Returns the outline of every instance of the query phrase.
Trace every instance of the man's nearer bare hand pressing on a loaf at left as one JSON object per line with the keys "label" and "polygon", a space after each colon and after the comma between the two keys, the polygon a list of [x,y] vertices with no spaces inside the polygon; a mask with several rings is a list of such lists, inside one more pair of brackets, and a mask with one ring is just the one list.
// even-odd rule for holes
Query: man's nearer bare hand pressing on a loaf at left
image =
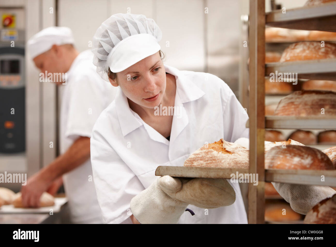
{"label": "man's nearer bare hand pressing on a loaf at left", "polygon": [[39,207],[40,197],[50,186],[51,181],[38,172],[31,176],[27,184],[22,186],[22,204],[24,207]]}

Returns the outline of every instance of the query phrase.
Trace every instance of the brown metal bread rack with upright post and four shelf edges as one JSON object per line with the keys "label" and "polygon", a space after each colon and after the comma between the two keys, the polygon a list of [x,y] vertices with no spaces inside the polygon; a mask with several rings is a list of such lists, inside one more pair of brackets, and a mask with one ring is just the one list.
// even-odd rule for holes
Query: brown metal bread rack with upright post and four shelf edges
{"label": "brown metal bread rack with upright post and four shelf edges", "polygon": [[[250,0],[249,29],[249,83],[250,114],[247,126],[250,128],[250,171],[258,173],[257,186],[249,184],[248,222],[264,223],[265,197],[264,183],[277,181],[287,183],[317,184],[321,172],[327,174],[328,184],[336,186],[336,171],[265,170],[264,139],[265,128],[278,129],[333,129],[336,118],[301,118],[301,117],[265,117],[265,76],[271,72],[296,72],[299,78],[336,80],[336,59],[295,61],[266,64],[265,25],[272,27],[318,30],[336,32],[336,3],[320,6],[308,6],[295,9],[275,10],[265,13],[264,0]],[[318,122],[317,122],[318,121]],[[304,127],[302,127],[304,126]],[[327,175],[326,175],[327,177]],[[318,179],[319,178],[319,179]]]}

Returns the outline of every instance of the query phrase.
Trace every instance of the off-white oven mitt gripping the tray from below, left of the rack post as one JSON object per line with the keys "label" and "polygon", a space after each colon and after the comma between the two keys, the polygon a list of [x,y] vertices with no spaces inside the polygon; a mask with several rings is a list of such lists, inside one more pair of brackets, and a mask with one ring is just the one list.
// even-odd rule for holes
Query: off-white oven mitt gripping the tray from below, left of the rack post
{"label": "off-white oven mitt gripping the tray from below, left of the rack post", "polygon": [[142,224],[176,224],[189,204],[200,208],[229,206],[236,193],[226,179],[162,176],[131,200]]}

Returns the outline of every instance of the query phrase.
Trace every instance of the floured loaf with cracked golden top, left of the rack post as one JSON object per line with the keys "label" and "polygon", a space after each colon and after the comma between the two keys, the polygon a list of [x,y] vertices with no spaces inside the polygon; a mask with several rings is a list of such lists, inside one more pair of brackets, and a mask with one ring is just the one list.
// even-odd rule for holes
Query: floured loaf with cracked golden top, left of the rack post
{"label": "floured loaf with cracked golden top, left of the rack post", "polygon": [[184,161],[184,166],[249,168],[249,150],[222,138],[196,150]]}

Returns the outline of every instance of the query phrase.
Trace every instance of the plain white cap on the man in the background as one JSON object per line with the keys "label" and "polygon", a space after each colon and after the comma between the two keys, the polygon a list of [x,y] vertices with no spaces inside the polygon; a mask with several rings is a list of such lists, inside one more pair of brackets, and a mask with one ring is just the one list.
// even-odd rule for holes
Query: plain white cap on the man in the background
{"label": "plain white cap on the man in the background", "polygon": [[72,31],[67,27],[49,27],[33,35],[27,42],[31,59],[50,50],[53,45],[74,44]]}

